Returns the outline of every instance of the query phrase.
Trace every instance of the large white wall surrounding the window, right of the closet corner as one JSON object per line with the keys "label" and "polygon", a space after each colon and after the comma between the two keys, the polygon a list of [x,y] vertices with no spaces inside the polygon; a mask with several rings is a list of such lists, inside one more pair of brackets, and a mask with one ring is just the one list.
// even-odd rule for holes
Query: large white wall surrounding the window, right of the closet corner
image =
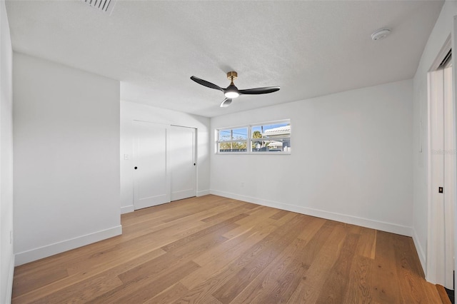
{"label": "large white wall surrounding the window, right of the closet corner", "polygon": [[411,80],[219,116],[211,128],[285,118],[291,155],[212,152],[211,193],[411,235]]}

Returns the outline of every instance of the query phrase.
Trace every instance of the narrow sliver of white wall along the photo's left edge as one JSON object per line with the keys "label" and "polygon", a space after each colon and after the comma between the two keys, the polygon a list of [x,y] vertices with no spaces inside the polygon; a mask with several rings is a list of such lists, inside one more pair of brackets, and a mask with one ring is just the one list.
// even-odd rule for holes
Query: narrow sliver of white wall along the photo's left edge
{"label": "narrow sliver of white wall along the photo's left edge", "polygon": [[0,303],[10,303],[14,254],[12,51],[5,1],[0,1]]}

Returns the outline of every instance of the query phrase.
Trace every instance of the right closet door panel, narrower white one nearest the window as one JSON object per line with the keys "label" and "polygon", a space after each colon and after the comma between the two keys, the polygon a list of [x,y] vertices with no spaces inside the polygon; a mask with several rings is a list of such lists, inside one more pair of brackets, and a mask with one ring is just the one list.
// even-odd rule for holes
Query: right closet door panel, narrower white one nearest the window
{"label": "right closet door panel, narrower white one nearest the window", "polygon": [[196,129],[169,128],[171,201],[196,196]]}

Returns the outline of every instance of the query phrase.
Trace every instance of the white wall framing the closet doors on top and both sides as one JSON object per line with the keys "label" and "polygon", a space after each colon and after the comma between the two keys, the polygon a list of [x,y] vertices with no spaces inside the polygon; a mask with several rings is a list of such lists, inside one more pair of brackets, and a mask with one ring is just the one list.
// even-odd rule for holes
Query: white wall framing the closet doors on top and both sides
{"label": "white wall framing the closet doors on top and both sides", "polygon": [[[133,202],[133,134],[134,120],[197,128],[197,196],[209,194],[209,126],[210,119],[178,111],[121,101],[121,209],[134,211]],[[129,160],[124,160],[124,154]]]}

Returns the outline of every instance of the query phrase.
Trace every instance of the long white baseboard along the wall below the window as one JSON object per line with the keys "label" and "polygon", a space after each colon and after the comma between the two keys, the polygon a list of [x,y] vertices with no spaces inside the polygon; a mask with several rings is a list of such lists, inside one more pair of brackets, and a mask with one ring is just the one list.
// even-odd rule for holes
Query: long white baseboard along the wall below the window
{"label": "long white baseboard along the wall below the window", "polygon": [[348,216],[341,213],[333,213],[329,211],[322,211],[313,208],[306,208],[302,206],[289,205],[286,203],[278,203],[275,201],[268,201],[261,198],[253,198],[251,196],[241,196],[235,193],[228,193],[224,191],[211,190],[211,194],[215,196],[224,196],[226,198],[233,198],[238,201],[246,201],[248,203],[256,203],[258,205],[278,208],[286,211],[292,211],[296,213],[306,214],[307,216],[316,216],[318,218],[325,218],[327,220],[338,221],[342,223],[353,224],[366,228],[372,228],[376,230],[382,230],[390,233],[396,233],[400,235],[412,236],[411,227],[401,226],[393,223],[386,223],[382,221],[374,221],[368,218],[358,218],[357,216]]}

